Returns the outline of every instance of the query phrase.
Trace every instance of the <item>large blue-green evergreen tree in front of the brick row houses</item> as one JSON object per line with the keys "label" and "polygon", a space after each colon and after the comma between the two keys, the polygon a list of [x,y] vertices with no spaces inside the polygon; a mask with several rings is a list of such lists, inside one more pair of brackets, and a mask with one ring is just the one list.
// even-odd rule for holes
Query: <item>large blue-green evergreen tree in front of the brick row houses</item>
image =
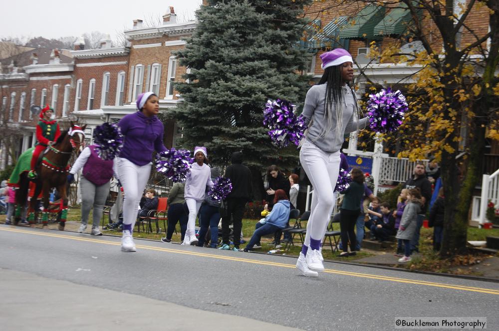
{"label": "large blue-green evergreen tree in front of the brick row houses", "polygon": [[196,31],[176,54],[191,83],[175,84],[185,102],[167,115],[183,126],[183,147],[205,145],[215,164],[242,150],[255,174],[270,164],[296,166],[296,148],[271,144],[263,107],[269,98],[304,101],[310,77],[299,72],[309,55],[296,44],[310,2],[212,0],[197,11]]}

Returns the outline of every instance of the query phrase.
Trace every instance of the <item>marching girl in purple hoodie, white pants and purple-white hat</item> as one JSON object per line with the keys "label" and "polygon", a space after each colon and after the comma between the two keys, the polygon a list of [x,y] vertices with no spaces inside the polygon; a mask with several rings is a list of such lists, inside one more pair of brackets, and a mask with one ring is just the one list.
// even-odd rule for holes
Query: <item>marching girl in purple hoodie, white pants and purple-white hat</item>
{"label": "marching girl in purple hoodie, white pants and purple-white hat", "polygon": [[139,111],[126,115],[118,123],[125,142],[115,160],[116,173],[126,193],[121,250],[127,252],[136,251],[132,230],[142,192],[151,173],[153,151],[166,151],[163,145],[163,123],[156,116],[159,112],[158,97],[152,92],[142,93],[136,103]]}

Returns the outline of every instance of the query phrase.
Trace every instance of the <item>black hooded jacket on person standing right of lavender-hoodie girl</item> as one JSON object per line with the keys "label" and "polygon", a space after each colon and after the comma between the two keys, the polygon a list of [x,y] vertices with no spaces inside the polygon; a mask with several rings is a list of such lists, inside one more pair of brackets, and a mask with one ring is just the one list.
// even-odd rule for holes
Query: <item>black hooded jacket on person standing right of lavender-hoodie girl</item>
{"label": "black hooded jacket on person standing right of lavender-hoodie girl", "polygon": [[253,187],[251,181],[250,168],[243,165],[243,153],[235,152],[232,154],[232,164],[225,170],[225,177],[232,182],[232,191],[227,196],[228,199],[253,199]]}

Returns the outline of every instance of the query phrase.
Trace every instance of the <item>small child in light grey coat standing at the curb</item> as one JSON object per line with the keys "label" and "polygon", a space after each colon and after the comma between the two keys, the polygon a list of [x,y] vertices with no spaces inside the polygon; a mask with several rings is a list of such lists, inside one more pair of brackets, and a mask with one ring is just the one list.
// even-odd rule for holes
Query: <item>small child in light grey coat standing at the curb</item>
{"label": "small child in light grey coat standing at the curb", "polygon": [[407,206],[400,220],[397,239],[404,241],[404,256],[399,258],[399,262],[408,262],[411,260],[411,239],[418,230],[417,217],[421,211],[423,203],[419,189],[410,189],[407,195]]}

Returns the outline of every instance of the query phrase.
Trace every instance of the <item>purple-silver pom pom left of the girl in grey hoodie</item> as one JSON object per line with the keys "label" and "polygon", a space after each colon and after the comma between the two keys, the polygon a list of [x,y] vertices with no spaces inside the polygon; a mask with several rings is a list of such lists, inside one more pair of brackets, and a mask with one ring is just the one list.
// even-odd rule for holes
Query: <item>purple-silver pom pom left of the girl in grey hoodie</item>
{"label": "purple-silver pom pom left of the girl in grey hoodie", "polygon": [[307,128],[304,117],[294,114],[294,106],[286,100],[268,100],[263,111],[263,125],[267,126],[270,140],[277,147],[289,143],[298,146]]}

